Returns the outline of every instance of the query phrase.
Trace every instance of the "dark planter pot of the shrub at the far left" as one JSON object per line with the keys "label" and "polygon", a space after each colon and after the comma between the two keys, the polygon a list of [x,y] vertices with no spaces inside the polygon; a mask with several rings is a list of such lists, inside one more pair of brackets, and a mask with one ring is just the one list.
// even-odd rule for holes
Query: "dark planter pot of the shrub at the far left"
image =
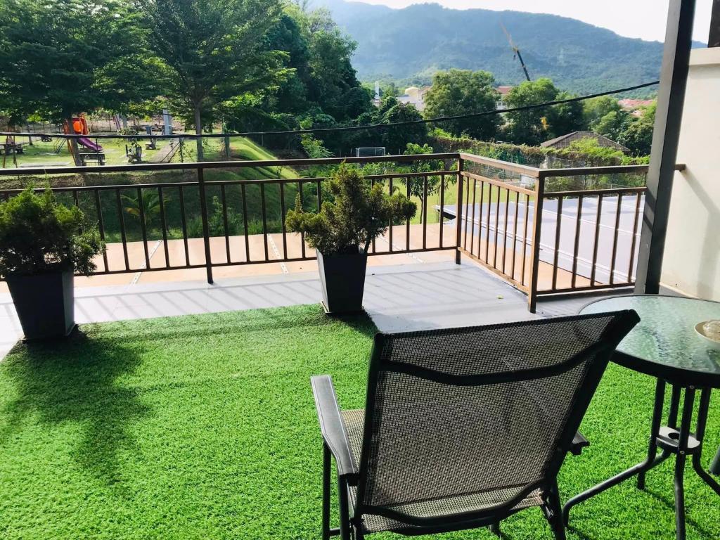
{"label": "dark planter pot of the shrub at the far left", "polygon": [[14,275],[6,280],[26,340],[61,338],[73,331],[73,271]]}

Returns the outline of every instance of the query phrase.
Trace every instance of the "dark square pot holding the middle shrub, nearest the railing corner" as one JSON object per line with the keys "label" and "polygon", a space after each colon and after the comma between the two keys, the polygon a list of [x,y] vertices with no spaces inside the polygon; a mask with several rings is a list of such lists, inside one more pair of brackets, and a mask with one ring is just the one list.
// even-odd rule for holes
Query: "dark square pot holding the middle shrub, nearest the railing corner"
{"label": "dark square pot holding the middle shrub, nearest the railing corner", "polygon": [[367,253],[323,255],[318,251],[318,270],[323,288],[323,307],[331,315],[362,311]]}

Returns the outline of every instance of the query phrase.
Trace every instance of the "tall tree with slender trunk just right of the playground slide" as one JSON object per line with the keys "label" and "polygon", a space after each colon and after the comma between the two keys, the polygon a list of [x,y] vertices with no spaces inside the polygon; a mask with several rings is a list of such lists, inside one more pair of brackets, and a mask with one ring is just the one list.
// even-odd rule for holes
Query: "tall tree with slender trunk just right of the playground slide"
{"label": "tall tree with slender trunk just right of the playground slide", "polygon": [[[171,99],[193,112],[195,133],[217,104],[276,86],[288,74],[284,53],[265,50],[264,36],[282,4],[274,0],[137,0],[150,48],[166,66]],[[202,139],[197,139],[202,161]]]}

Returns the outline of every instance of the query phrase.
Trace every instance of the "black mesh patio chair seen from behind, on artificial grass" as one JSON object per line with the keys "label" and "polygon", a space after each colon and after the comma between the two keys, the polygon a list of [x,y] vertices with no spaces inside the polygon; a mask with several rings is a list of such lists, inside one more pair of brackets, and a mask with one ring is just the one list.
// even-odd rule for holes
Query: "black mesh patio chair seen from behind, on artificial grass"
{"label": "black mesh patio chair seen from behind, on artificial grass", "polygon": [[[564,539],[557,472],[633,311],[379,333],[366,408],[312,377],[323,433],[323,540],[490,526],[539,506]],[[340,528],[330,528],[330,458]]]}

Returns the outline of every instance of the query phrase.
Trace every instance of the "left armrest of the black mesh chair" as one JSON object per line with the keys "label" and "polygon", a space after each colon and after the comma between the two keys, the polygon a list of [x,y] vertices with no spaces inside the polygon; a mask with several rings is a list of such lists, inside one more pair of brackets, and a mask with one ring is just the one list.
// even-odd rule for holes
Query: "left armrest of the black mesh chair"
{"label": "left armrest of the black mesh chair", "polygon": [[333,379],[330,379],[330,375],[318,375],[310,379],[310,384],[312,384],[312,395],[315,397],[315,408],[318,410],[320,431],[323,433],[325,444],[335,457],[338,476],[357,474],[350,439],[340,415]]}

